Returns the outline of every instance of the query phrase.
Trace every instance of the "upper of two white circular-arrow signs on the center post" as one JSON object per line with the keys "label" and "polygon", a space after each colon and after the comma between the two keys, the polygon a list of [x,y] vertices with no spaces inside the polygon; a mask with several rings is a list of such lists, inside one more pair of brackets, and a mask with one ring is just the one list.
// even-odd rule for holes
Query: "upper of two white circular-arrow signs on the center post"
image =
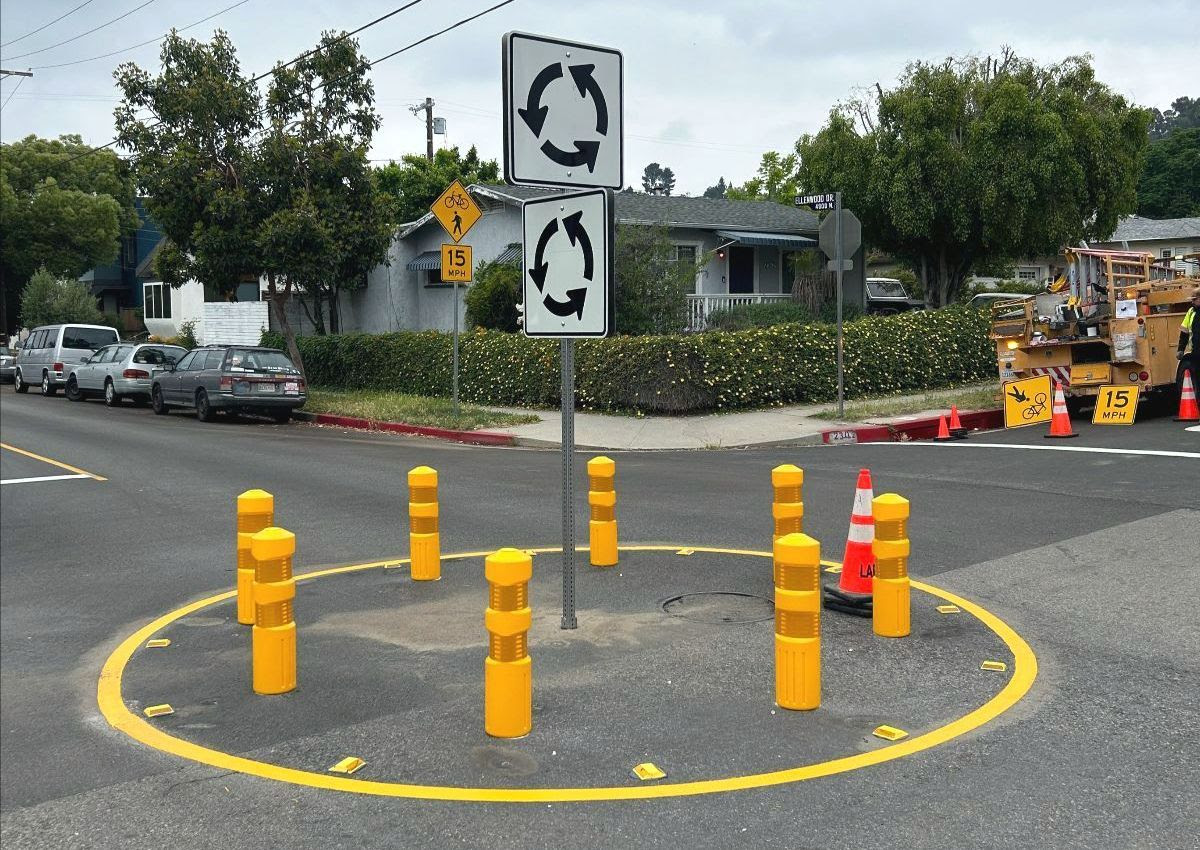
{"label": "upper of two white circular-arrow signs on the center post", "polygon": [[625,161],[620,52],[509,32],[502,62],[505,181],[620,188]]}

